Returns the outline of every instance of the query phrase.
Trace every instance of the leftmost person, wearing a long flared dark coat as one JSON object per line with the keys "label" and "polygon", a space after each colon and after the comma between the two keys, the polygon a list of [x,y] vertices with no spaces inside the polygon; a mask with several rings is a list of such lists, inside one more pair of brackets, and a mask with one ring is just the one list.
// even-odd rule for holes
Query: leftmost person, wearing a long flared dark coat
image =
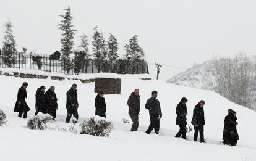
{"label": "leftmost person, wearing a long flared dark coat", "polygon": [[27,102],[25,101],[25,98],[27,98],[27,86],[28,83],[24,82],[22,86],[19,88],[18,94],[17,94],[17,101],[15,103],[14,112],[19,112],[18,117],[27,118],[27,113],[30,110],[30,108],[27,105]]}

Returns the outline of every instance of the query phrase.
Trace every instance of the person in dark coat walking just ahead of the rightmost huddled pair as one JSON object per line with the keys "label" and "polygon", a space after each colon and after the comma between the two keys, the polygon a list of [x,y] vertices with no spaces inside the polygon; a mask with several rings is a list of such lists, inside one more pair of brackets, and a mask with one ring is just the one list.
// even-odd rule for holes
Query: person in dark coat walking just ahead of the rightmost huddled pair
{"label": "person in dark coat walking just ahead of the rightmost huddled pair", "polygon": [[193,111],[192,125],[194,125],[195,133],[194,133],[194,141],[197,141],[198,132],[200,132],[200,142],[205,142],[203,137],[203,126],[205,125],[205,112],[203,111],[203,106],[205,105],[205,101],[201,100],[197,105],[195,105],[195,109]]}

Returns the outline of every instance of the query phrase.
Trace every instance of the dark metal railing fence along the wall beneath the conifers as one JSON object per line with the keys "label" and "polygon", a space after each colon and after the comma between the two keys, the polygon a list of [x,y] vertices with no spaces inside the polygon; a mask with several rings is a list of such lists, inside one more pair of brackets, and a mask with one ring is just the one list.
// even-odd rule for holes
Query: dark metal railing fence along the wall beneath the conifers
{"label": "dark metal railing fence along the wall beneath the conifers", "polygon": [[[64,71],[61,67],[61,60],[50,60],[49,56],[41,56],[41,68],[38,68],[36,61],[33,61],[31,55],[17,54],[15,55],[15,64],[9,66],[5,64],[2,55],[0,55],[0,67],[1,68],[19,68],[19,69],[31,69],[31,70],[41,70],[45,72],[56,72],[64,74],[75,74],[74,69],[71,69],[69,73]],[[109,62],[110,64],[110,62]],[[132,68],[131,64],[124,64],[122,61],[115,61],[112,63],[112,73],[122,73],[122,74],[132,74],[131,70],[124,71],[123,68],[130,69]],[[148,73],[147,62],[142,62],[143,67],[137,68],[134,74]],[[122,67],[123,66],[123,67]],[[109,71],[110,72],[110,71]],[[99,73],[95,60],[90,60],[89,65],[83,65],[83,68],[80,73]]]}

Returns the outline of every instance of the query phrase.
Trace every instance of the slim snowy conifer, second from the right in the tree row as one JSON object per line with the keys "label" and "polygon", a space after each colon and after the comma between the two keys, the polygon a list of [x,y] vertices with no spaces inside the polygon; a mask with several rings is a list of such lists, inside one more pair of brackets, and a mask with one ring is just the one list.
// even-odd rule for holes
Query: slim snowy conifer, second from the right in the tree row
{"label": "slim snowy conifer, second from the right in the tree row", "polygon": [[108,58],[110,63],[110,72],[113,73],[113,61],[116,61],[119,58],[118,51],[118,42],[112,33],[109,33],[108,38]]}

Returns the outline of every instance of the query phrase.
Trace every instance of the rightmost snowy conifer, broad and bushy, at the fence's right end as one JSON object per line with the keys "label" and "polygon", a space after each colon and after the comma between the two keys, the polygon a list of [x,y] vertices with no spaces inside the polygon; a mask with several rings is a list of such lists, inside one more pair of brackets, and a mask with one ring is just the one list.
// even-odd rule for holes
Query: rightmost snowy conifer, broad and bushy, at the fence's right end
{"label": "rightmost snowy conifer, broad and bushy, at the fence's right end", "polygon": [[139,73],[140,64],[144,59],[144,52],[138,44],[138,35],[130,39],[129,44],[124,46],[124,50],[126,51],[125,57],[131,65],[130,70],[132,74]]}

